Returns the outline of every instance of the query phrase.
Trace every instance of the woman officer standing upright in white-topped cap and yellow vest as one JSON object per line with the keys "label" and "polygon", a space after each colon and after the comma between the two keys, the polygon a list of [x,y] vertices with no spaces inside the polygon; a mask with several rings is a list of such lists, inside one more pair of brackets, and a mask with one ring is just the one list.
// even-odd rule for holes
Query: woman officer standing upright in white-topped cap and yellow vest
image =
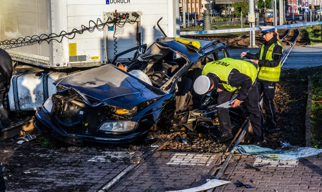
{"label": "woman officer standing upright in white-topped cap and yellow vest", "polygon": [[272,132],[276,130],[276,112],[273,100],[276,83],[279,81],[281,73],[283,47],[275,27],[264,26],[259,28],[262,32],[261,36],[264,37],[266,42],[257,54],[243,52],[240,57],[245,56],[254,59],[252,62],[258,65],[258,89],[260,94],[263,93],[263,108],[266,112],[265,129]]}

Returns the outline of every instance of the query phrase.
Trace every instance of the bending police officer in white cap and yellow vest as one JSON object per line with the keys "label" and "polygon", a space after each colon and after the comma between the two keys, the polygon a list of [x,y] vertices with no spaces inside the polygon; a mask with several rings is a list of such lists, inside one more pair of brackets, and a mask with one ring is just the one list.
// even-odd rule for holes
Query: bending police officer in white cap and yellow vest
{"label": "bending police officer in white cap and yellow vest", "polygon": [[[218,105],[229,101],[235,90],[239,89],[236,98],[231,102],[233,108],[245,102],[250,113],[251,124],[254,131],[254,144],[261,145],[264,141],[263,116],[260,109],[260,95],[256,82],[257,69],[247,61],[223,58],[209,62],[205,65],[202,75],[194,83],[194,90],[198,94],[205,94],[214,87],[218,92]],[[218,108],[221,143],[232,138],[229,109]]]}

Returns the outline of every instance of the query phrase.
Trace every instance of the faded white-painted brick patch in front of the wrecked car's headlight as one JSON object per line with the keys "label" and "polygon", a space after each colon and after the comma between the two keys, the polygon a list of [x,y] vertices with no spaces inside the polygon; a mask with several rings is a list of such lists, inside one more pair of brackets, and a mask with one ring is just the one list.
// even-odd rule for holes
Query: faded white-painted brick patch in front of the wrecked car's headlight
{"label": "faded white-painted brick patch in front of the wrecked car's headlight", "polygon": [[102,155],[96,155],[88,161],[92,162],[112,162],[111,158],[117,158],[118,160],[123,160],[123,158],[130,158],[135,152],[127,151],[103,151]]}

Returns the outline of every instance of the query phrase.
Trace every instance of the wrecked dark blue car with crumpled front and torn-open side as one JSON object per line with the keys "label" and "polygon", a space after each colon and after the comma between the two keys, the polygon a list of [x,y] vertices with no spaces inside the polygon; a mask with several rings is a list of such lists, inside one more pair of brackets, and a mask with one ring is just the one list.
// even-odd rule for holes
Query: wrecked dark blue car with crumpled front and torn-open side
{"label": "wrecked dark blue car with crumpled front and torn-open side", "polygon": [[212,126],[217,93],[198,95],[207,62],[229,57],[218,40],[159,38],[136,59],[57,79],[57,92],[36,112],[35,127],[61,143],[131,144],[149,130]]}

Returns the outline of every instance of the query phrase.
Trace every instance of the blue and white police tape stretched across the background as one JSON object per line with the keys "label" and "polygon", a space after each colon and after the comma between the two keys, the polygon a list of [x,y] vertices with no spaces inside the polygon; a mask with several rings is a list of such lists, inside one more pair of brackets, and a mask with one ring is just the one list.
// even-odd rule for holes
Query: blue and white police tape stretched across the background
{"label": "blue and white police tape stretched across the background", "polygon": [[[309,23],[296,23],[296,24],[287,24],[287,25],[278,25],[275,26],[276,29],[282,28],[292,28],[292,27],[302,27],[302,26],[311,26],[311,25],[322,25],[322,21],[309,22]],[[247,32],[247,31],[259,31],[260,28],[241,28],[241,29],[220,29],[220,30],[210,30],[210,31],[184,31],[180,32],[180,35],[203,35],[203,34],[218,34],[218,33],[235,33],[235,32]]]}

